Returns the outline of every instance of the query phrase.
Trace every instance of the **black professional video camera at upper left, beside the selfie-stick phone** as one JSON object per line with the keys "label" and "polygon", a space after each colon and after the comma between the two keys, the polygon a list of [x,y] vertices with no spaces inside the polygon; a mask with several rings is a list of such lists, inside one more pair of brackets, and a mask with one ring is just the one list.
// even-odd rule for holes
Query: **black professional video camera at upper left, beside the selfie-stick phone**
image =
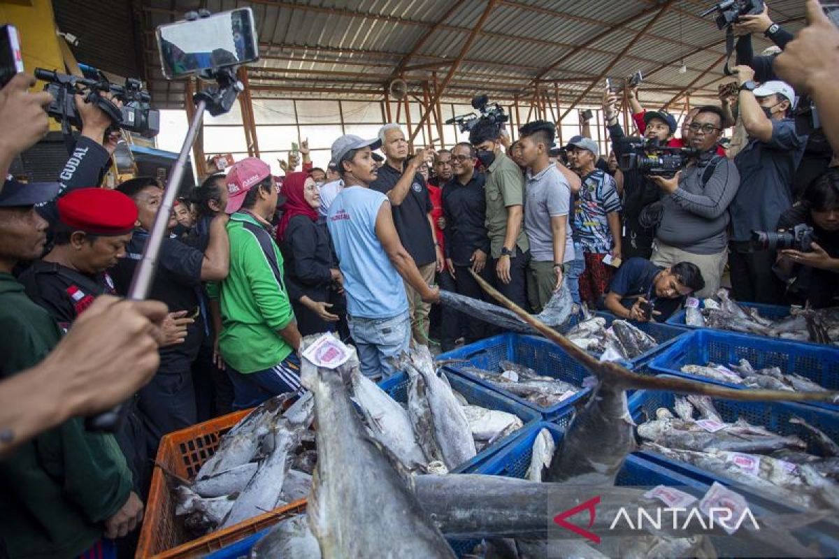
{"label": "black professional video camera at upper left, beside the selfie-stick phone", "polygon": [[[81,118],[76,111],[76,95],[85,96],[85,101],[94,103],[110,116],[112,130],[122,128],[143,137],[154,137],[160,132],[160,112],[149,106],[151,96],[148,91],[143,91],[143,82],[140,80],[127,78],[125,85],[117,85],[104,76],[99,80],[91,80],[42,68],[35,69],[35,77],[47,82],[44,91],[48,91],[54,99],[47,107],[47,113],[62,123],[65,132],[70,132],[70,125],[81,128]],[[83,88],[87,91],[83,91]],[[122,101],[122,108],[102,96],[103,92],[110,92]]]}

